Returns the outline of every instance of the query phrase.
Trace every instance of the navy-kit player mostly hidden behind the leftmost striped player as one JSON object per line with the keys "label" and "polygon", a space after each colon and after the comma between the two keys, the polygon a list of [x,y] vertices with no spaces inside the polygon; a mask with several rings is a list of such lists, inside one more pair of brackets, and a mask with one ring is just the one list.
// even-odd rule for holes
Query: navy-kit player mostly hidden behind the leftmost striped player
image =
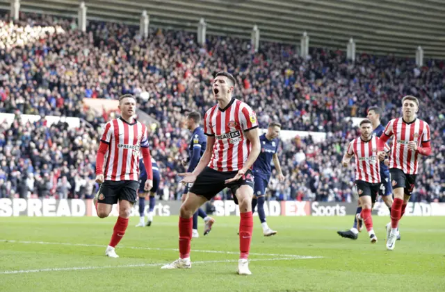
{"label": "navy-kit player mostly hidden behind the leftmost striped player", "polygon": [[141,158],[139,160],[139,223],[136,227],[144,227],[145,226],[145,199],[149,193],[149,207],[148,207],[148,215],[147,215],[147,226],[152,225],[153,222],[153,209],[154,204],[156,203],[156,192],[159,188],[159,181],[161,180],[161,176],[159,175],[159,166],[156,164],[156,160],[152,157],[152,171],[153,171],[153,187],[149,190],[149,192],[144,190],[145,180],[147,180],[147,172],[145,172],[144,161]]}

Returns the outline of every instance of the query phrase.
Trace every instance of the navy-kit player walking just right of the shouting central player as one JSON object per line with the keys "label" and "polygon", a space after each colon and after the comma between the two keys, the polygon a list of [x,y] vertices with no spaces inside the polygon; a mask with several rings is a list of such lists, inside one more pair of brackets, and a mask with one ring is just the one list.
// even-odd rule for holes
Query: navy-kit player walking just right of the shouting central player
{"label": "navy-kit player walking just right of the shouting central player", "polygon": [[263,227],[263,233],[265,237],[277,234],[275,230],[271,230],[266,223],[266,214],[264,213],[264,198],[266,194],[266,187],[269,183],[270,174],[272,173],[272,167],[270,162],[273,160],[275,169],[277,169],[278,180],[282,182],[284,175],[281,171],[280,161],[278,160],[278,144],[280,139],[281,124],[277,122],[269,123],[267,132],[259,137],[261,144],[261,152],[258,155],[257,160],[253,164],[254,175],[254,193],[252,199],[252,212],[255,211],[255,206],[258,205],[258,216],[261,221],[261,227]]}

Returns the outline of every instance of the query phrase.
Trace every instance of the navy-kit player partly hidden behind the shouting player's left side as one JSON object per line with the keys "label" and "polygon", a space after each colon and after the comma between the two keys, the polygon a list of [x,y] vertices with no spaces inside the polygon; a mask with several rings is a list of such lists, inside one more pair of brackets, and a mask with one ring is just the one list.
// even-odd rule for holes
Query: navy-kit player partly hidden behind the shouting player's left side
{"label": "navy-kit player partly hidden behind the shouting player's left side", "polygon": [[[192,132],[192,137],[190,140],[190,145],[188,146],[188,157],[182,160],[181,163],[184,167],[188,165],[188,173],[191,173],[195,170],[195,167],[197,166],[198,162],[200,162],[202,154],[204,154],[207,146],[207,137],[204,135],[204,129],[200,127],[200,121],[201,114],[199,112],[190,112],[187,115],[186,127]],[[190,189],[192,185],[193,183],[186,184],[184,194],[182,195],[183,203],[184,200],[186,200],[188,189]],[[204,212],[202,208],[197,209],[197,212],[193,214],[193,238],[200,237],[200,234],[197,232],[197,216],[200,216],[204,219],[204,235],[209,234],[213,223],[215,223],[215,219],[207,216],[206,212]]]}

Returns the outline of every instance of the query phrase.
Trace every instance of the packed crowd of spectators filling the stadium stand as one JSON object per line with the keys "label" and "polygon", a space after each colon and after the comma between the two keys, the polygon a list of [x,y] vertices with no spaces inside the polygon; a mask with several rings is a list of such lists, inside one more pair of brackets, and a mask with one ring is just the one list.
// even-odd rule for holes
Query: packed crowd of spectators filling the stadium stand
{"label": "packed crowd of spectators filling the stadium stand", "polygon": [[[152,155],[161,166],[159,196],[179,199],[177,173],[187,155],[184,117],[214,104],[211,80],[217,71],[236,76],[237,98],[252,105],[261,128],[280,121],[283,130],[327,132],[284,141],[280,151],[286,182],[274,175],[271,200],[355,200],[353,164],[342,169],[344,149],[357,130],[346,117],[365,117],[380,106],[383,123],[400,115],[401,97],[419,97],[419,117],[430,124],[433,155],[421,160],[412,200],[445,201],[445,66],[427,60],[357,55],[312,49],[300,58],[296,46],[151,29],[143,40],[136,27],[90,22],[86,33],[75,19],[21,14],[0,16],[0,198],[5,196],[90,198],[97,189],[95,151],[102,123],[115,112],[88,108],[84,98],[116,99],[135,94],[140,109],[160,122],[150,126]],[[81,126],[22,123],[20,114],[79,117]],[[219,198],[229,198],[224,192]]]}

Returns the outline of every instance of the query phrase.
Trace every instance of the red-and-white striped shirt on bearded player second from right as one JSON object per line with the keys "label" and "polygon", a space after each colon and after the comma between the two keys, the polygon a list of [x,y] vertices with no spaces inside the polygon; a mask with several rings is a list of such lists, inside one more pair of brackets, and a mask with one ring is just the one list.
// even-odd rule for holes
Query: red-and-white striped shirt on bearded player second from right
{"label": "red-and-white striped shirt on bearded player second from right", "polygon": [[[369,141],[363,141],[362,137],[358,137],[350,141],[348,155],[355,155],[355,180],[380,183],[378,141],[378,137],[372,137]],[[389,151],[389,146],[385,147],[385,151]]]}

